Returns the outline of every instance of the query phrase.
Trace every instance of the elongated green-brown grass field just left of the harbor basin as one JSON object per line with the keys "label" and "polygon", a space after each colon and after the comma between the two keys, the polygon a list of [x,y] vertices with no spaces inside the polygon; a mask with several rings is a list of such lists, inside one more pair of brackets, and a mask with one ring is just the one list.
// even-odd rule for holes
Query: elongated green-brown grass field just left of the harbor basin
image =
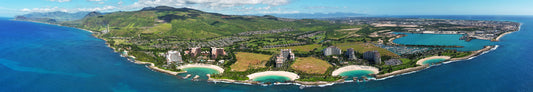
{"label": "elongated green-brown grass field just left of the harbor basin", "polygon": [[372,51],[377,50],[381,55],[387,55],[391,57],[399,57],[397,54],[394,54],[390,52],[387,49],[376,47],[372,44],[366,44],[362,42],[351,42],[351,43],[338,43],[334,46],[337,46],[338,48],[342,49],[343,51],[346,51],[348,48],[353,48],[355,51],[359,53],[364,53],[366,51]]}

